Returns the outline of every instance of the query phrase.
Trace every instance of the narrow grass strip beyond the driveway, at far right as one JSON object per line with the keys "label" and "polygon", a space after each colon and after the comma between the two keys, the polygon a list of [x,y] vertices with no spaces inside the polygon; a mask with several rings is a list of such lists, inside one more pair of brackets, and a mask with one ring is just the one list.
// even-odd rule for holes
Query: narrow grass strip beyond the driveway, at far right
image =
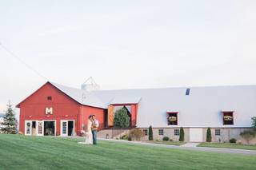
{"label": "narrow grass strip beyond the driveway, at far right", "polygon": [[230,144],[230,143],[201,143],[198,146],[210,148],[239,148],[247,150],[256,150],[256,145]]}

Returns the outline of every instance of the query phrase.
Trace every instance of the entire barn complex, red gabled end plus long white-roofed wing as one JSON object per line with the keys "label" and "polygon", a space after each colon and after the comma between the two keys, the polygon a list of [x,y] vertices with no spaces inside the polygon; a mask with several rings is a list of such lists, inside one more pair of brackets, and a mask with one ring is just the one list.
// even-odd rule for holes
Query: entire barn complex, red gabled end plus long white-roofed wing
{"label": "entire barn complex, red gabled end plus long white-roofed wing", "polygon": [[[62,93],[55,92],[56,89]],[[49,96],[42,97],[42,94]],[[75,103],[70,103],[67,108],[61,100],[58,101],[60,95]],[[56,109],[53,108],[55,114],[45,115],[42,106],[48,108],[52,105],[56,106]],[[78,109],[74,109],[74,105]],[[85,106],[90,110],[79,109]],[[109,129],[114,125],[115,111],[125,107],[130,116],[130,128],[143,129],[145,139],[151,125],[154,139],[158,140],[162,140],[163,136],[178,140],[181,127],[184,128],[186,141],[206,141],[207,128],[211,128],[213,141],[240,140],[240,132],[250,128],[251,117],[256,116],[256,85],[86,91],[46,82],[18,107],[21,107],[22,116],[20,129],[24,132],[27,128],[25,122],[33,123],[34,116],[40,115],[38,120],[58,120],[56,117],[62,117],[66,109],[73,110],[65,115],[75,114],[72,116],[79,118],[75,127],[77,134],[82,130],[86,117],[94,113],[98,114],[101,130]],[[34,127],[36,129],[36,121]],[[56,130],[59,132],[60,128]]]}

